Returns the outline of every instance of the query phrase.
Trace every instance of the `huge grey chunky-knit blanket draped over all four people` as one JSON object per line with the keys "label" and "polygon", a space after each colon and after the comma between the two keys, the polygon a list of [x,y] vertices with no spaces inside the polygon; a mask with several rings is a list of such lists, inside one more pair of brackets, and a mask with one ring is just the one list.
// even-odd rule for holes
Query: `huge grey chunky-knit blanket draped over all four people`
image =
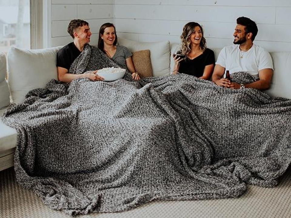
{"label": "huge grey chunky-knit blanket draped over all four people", "polygon": [[[86,45],[70,73],[118,67]],[[244,81],[245,73],[233,80]],[[291,100],[186,74],[50,81],[3,116],[17,180],[71,215],[273,187],[291,160]]]}

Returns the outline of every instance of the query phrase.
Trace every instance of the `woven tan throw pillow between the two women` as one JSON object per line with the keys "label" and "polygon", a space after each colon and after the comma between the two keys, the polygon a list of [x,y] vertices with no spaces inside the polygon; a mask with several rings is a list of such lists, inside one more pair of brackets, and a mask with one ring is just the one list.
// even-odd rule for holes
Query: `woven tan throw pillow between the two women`
{"label": "woven tan throw pillow between the two women", "polygon": [[152,77],[152,64],[149,50],[132,52],[132,62],[140,77]]}

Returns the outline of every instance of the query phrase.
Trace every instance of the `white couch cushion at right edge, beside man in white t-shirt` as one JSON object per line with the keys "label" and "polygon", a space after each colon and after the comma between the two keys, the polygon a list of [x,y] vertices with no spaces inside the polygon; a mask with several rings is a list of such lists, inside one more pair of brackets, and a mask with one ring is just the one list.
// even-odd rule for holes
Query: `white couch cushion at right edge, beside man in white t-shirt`
{"label": "white couch cushion at right edge, beside man in white t-shirt", "polygon": [[291,99],[291,52],[270,52],[274,64],[271,88],[266,92],[272,96]]}

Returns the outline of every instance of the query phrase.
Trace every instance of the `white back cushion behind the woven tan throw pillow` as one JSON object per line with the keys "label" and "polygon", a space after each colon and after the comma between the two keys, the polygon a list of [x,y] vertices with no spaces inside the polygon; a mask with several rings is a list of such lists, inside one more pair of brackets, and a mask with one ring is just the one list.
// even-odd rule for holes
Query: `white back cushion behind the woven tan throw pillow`
{"label": "white back cushion behind the woven tan throw pillow", "polygon": [[118,44],[127,47],[131,52],[150,50],[153,76],[165,76],[170,73],[170,42],[139,42],[118,38]]}

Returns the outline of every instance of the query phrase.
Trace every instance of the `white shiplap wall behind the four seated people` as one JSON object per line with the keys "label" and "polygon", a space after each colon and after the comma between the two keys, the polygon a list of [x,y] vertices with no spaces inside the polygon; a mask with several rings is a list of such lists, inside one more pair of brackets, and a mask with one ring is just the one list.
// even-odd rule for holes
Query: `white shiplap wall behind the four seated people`
{"label": "white shiplap wall behind the four seated people", "polygon": [[236,18],[258,24],[255,43],[269,51],[291,51],[291,0],[50,0],[49,46],[72,41],[66,29],[74,18],[85,19],[97,44],[102,23],[115,23],[119,37],[136,41],[179,42],[183,26],[199,22],[210,48],[231,45]]}

